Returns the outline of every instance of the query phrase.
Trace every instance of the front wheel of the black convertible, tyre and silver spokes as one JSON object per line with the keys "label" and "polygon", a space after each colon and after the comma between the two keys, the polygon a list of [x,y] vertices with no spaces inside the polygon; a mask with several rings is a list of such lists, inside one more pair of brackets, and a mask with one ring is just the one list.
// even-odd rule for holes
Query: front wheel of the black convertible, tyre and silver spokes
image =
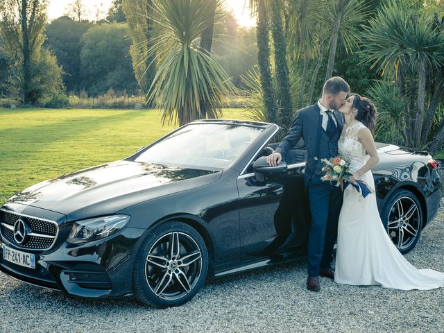
{"label": "front wheel of the black convertible, tyre and silver spokes", "polygon": [[137,253],[133,293],[146,305],[177,307],[196,295],[207,271],[203,238],[191,226],[170,221],[150,232]]}

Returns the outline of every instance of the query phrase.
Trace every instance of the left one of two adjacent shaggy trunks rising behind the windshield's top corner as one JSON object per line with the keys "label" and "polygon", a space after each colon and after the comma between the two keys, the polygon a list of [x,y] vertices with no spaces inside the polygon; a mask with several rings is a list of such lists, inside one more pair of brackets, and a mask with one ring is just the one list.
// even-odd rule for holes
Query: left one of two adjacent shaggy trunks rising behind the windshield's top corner
{"label": "left one of two adjacent shaggy trunks rising behind the windshield's top corner", "polygon": [[261,76],[262,92],[264,93],[264,106],[266,119],[277,123],[275,101],[273,96],[273,83],[270,69],[270,45],[268,43],[268,21],[266,18],[263,0],[257,4],[257,65]]}

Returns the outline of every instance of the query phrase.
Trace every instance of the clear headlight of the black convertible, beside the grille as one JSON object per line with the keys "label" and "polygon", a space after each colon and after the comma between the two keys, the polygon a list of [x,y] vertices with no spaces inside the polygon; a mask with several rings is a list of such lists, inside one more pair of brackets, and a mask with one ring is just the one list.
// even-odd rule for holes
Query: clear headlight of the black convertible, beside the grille
{"label": "clear headlight of the black convertible, beside the grille", "polygon": [[71,229],[68,243],[78,244],[86,241],[96,241],[121,230],[130,221],[128,215],[102,216],[95,219],[77,221]]}

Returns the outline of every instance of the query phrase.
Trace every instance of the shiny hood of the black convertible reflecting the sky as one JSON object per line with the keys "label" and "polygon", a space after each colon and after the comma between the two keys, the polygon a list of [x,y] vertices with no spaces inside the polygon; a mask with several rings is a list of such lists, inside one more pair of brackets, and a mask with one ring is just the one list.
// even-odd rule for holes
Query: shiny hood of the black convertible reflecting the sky
{"label": "shiny hood of the black convertible reflecting the sky", "polygon": [[69,173],[28,187],[8,203],[60,212],[68,221],[113,214],[151,198],[214,182],[220,171],[117,161]]}

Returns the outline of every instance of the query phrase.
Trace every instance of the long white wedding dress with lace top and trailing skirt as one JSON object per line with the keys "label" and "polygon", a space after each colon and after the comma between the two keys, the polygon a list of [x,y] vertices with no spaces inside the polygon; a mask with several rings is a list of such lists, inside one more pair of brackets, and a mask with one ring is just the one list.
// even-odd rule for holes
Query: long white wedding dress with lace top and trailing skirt
{"label": "long white wedding dress with lace top and trailing skirt", "polygon": [[[358,141],[361,128],[365,126],[360,122],[344,128],[339,139],[339,154],[350,159],[351,173],[361,169],[368,160],[364,146]],[[375,189],[370,171],[360,179]],[[379,217],[375,194],[359,198],[354,187],[345,188],[339,215],[334,281],[402,290],[444,287],[444,273],[416,269],[393,245]]]}

